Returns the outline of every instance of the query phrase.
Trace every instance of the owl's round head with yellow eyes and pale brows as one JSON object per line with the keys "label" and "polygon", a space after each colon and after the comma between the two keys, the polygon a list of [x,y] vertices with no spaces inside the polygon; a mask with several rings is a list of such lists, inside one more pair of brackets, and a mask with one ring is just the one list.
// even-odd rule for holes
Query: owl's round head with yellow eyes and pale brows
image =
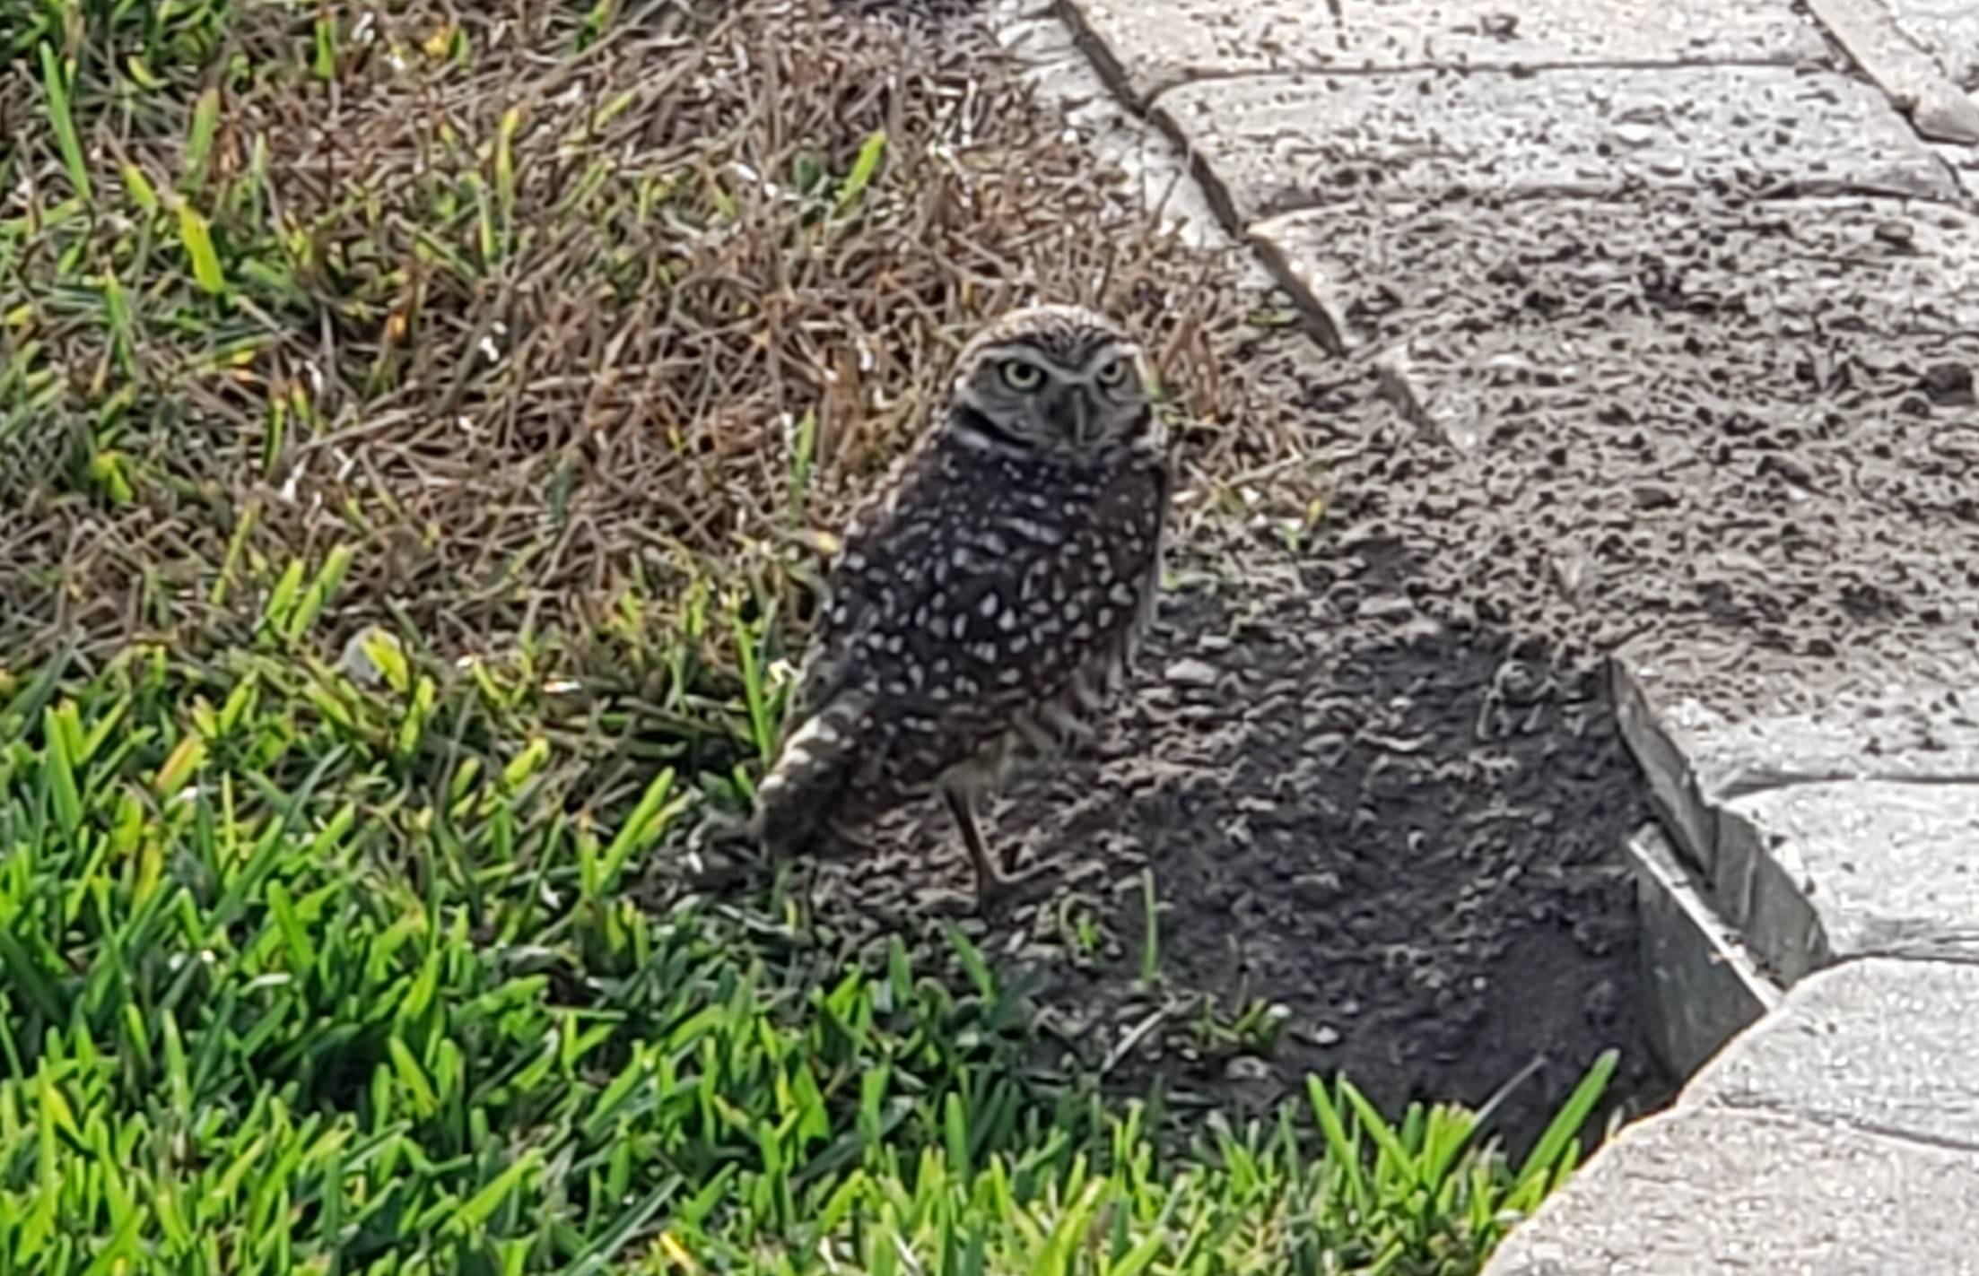
{"label": "owl's round head with yellow eyes and pale brows", "polygon": [[1148,431],[1140,346],[1104,315],[1039,305],[976,334],[956,362],[954,408],[993,441],[1084,451]]}

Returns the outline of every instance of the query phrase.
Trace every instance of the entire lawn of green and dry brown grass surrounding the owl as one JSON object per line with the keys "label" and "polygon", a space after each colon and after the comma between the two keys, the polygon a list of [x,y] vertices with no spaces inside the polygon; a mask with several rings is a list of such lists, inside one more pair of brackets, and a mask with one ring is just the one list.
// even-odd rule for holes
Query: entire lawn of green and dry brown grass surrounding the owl
{"label": "entire lawn of green and dry brown grass surrounding the owl", "polygon": [[966,40],[0,0],[0,1276],[1462,1276],[1573,1167],[1613,1060],[1520,1165],[1344,1080],[1231,1128],[1041,1070],[960,932],[647,888],[982,313],[1128,313],[1207,483],[1284,469]]}

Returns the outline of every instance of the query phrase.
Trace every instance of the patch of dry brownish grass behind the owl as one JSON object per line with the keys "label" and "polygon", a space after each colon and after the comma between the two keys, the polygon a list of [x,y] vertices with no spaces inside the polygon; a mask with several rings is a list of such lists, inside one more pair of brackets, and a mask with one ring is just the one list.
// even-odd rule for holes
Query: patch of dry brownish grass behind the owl
{"label": "patch of dry brownish grass behind the owl", "polygon": [[[170,46],[85,24],[87,200],[46,77],[0,71],[0,115],[40,125],[0,174],[0,665],[133,637],[196,659],[348,546],[327,649],[372,621],[443,657],[606,637],[572,661],[665,669],[685,712],[728,667],[724,595],[786,597],[803,530],[1029,297],[1148,336],[1191,463],[1282,449],[1221,425],[1227,265],[972,24],[602,12],[269,6]],[[158,87],[111,73],[133,42]]]}

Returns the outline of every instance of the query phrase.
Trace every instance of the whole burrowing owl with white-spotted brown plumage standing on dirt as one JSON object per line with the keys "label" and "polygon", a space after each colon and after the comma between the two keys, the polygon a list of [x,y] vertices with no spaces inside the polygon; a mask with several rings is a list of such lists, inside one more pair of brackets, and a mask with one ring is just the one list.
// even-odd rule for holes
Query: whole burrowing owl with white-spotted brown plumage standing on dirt
{"label": "whole burrowing owl with white-spotted brown plumage standing on dirt", "polygon": [[1172,471],[1142,352],[1079,307],[1005,315],[851,522],[788,736],[756,795],[780,855],[940,793],[978,902],[1035,874],[990,863],[976,811],[1088,738],[1154,613]]}

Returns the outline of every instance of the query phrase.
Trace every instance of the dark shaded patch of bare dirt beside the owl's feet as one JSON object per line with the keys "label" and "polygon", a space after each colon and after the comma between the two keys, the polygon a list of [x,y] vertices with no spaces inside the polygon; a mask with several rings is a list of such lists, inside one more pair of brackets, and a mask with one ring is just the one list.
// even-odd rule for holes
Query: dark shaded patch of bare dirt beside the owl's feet
{"label": "dark shaded patch of bare dirt beside the owl's feet", "polygon": [[[1205,566],[1225,582],[1170,599],[1108,736],[993,815],[1061,866],[1049,900],[976,924],[1057,1035],[1178,1108],[1261,1110],[1334,1070],[1391,1112],[1476,1106],[1532,1064],[1498,1108],[1514,1147],[1609,1047],[1613,1096],[1660,1098],[1619,855],[1647,809],[1595,671],[1435,619],[1391,538]],[[825,910],[910,916],[966,884],[938,811],[893,845],[827,866]]]}

